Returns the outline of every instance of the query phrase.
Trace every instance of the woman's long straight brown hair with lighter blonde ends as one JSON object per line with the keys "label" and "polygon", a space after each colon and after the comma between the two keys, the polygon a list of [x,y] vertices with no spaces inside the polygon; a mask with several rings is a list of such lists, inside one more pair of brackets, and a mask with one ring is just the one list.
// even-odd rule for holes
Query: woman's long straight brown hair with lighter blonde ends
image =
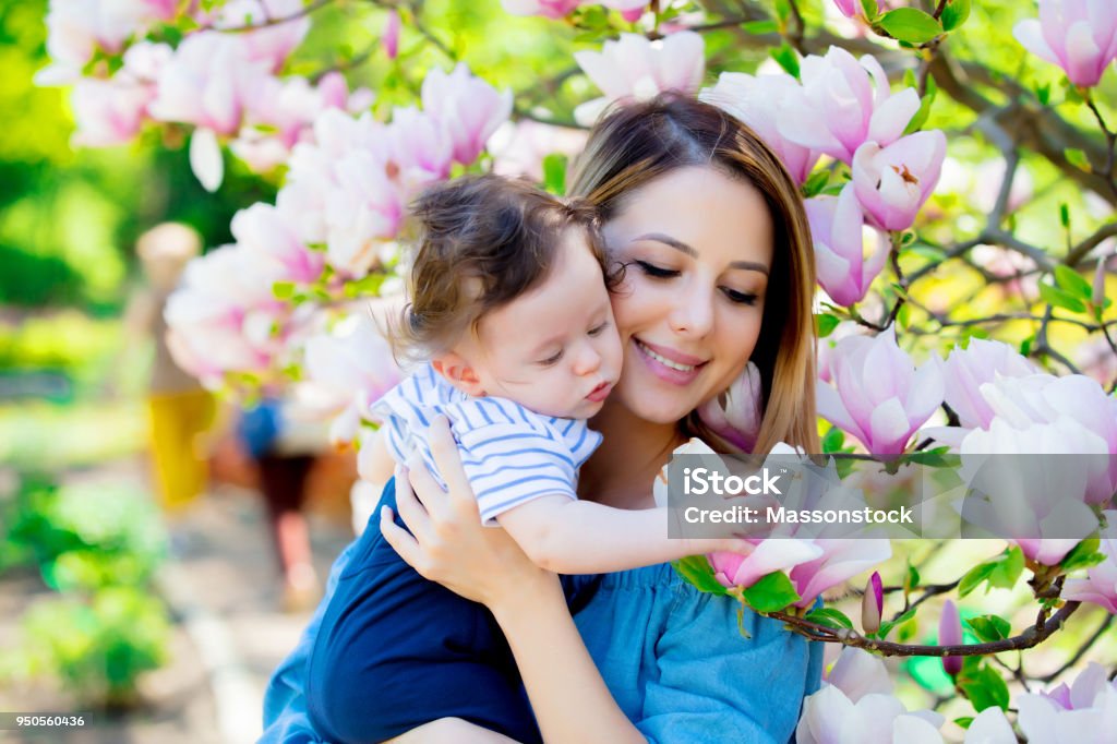
{"label": "woman's long straight brown hair with lighter blonde ends", "polygon": [[[772,273],[752,355],[763,380],[763,423],[755,449],[766,452],[785,441],[817,452],[810,226],[794,180],[760,136],[720,108],[678,94],[622,105],[594,126],[574,165],[570,193],[594,204],[608,222],[640,187],[695,165],[751,183],[772,218]],[[696,413],[680,428],[726,451],[734,449]]]}

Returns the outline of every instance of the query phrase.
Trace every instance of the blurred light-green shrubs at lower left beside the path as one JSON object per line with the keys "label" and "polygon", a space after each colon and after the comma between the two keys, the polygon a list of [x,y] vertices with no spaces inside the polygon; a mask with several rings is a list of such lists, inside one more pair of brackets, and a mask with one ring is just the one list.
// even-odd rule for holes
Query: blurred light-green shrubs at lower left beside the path
{"label": "blurred light-green shrubs at lower left beside the path", "polygon": [[166,659],[170,620],[150,584],[165,535],[149,498],[116,484],[57,487],[25,476],[0,496],[0,573],[38,569],[58,592],[21,619],[3,677],[51,676],[83,704],[137,702],[136,681]]}

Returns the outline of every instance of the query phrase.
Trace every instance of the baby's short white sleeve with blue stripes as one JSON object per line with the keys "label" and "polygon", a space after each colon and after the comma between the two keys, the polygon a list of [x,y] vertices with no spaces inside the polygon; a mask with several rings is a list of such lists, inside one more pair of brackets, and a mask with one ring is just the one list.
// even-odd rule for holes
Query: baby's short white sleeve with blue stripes
{"label": "baby's short white sleeve with blue stripes", "polygon": [[486,525],[541,496],[577,498],[577,470],[567,445],[545,428],[491,423],[457,431],[461,466]]}

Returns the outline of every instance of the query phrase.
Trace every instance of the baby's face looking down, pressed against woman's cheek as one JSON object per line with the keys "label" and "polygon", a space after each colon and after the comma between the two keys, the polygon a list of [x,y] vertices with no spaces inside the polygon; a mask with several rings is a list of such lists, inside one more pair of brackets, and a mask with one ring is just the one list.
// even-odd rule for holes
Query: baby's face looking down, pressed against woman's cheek
{"label": "baby's face looking down, pressed against woman's cheek", "polygon": [[543,283],[481,318],[462,349],[486,395],[543,416],[588,419],[621,371],[621,342],[601,267],[567,230]]}

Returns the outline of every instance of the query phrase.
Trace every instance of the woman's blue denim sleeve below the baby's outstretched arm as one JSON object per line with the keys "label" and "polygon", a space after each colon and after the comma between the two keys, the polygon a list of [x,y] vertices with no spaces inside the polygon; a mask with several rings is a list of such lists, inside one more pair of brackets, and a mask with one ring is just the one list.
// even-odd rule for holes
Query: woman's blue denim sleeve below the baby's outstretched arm
{"label": "woman's blue denim sleeve below the baby's outstretched arm", "polygon": [[[687,593],[689,594],[689,592]],[[651,744],[785,744],[822,677],[822,645],[728,598],[680,595],[636,723]]]}

